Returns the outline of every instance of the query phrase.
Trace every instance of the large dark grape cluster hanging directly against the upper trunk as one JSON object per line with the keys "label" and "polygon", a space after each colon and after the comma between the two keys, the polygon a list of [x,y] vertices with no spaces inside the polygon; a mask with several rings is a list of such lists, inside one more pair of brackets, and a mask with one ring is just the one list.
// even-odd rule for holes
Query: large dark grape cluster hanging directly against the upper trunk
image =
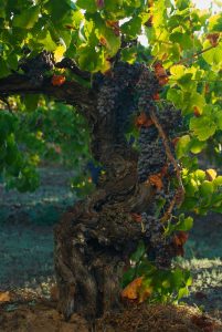
{"label": "large dark grape cluster hanging directly against the upper trunk", "polygon": [[114,145],[127,144],[125,132],[137,107],[134,100],[136,82],[141,72],[140,64],[117,62],[112,72],[97,74],[94,86],[98,90],[97,111],[101,121],[113,132]]}

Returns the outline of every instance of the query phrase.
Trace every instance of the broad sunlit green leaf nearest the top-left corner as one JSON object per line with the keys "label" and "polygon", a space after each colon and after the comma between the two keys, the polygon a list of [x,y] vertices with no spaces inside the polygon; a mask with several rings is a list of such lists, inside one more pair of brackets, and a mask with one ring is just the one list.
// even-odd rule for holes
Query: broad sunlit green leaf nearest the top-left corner
{"label": "broad sunlit green leaf nearest the top-left corner", "polygon": [[15,14],[12,20],[12,25],[23,29],[31,29],[39,20],[40,7],[33,6],[23,10],[20,14]]}

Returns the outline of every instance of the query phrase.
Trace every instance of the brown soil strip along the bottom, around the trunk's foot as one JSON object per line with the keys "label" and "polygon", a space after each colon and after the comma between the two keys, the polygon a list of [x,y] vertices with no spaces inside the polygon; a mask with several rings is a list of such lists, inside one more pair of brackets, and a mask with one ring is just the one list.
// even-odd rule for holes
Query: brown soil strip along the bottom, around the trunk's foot
{"label": "brown soil strip along the bottom, around the trunk's foot", "polygon": [[0,309],[2,332],[220,332],[222,324],[184,305],[139,305],[120,313],[107,313],[93,326],[73,314],[65,322],[52,303],[19,305],[14,311]]}

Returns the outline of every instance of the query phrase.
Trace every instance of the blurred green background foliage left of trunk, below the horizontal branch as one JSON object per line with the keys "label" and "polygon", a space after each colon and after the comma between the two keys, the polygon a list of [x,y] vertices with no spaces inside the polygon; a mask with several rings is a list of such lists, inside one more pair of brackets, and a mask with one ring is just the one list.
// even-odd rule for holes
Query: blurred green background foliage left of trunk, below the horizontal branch
{"label": "blurred green background foliage left of trunk, below the horizontal branch", "polygon": [[70,179],[73,187],[82,177],[89,177],[89,133],[74,107],[25,96],[1,102],[0,111],[0,173],[7,188],[35,190],[40,184],[38,167],[44,165],[75,170]]}

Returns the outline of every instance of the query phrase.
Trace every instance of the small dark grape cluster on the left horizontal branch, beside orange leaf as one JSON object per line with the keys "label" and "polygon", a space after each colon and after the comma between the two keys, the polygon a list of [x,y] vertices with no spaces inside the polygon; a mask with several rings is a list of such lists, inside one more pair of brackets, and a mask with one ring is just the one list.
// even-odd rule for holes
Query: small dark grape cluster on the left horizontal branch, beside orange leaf
{"label": "small dark grape cluster on the left horizontal branch, beside orange leaf", "polygon": [[39,86],[43,82],[45,72],[54,68],[53,54],[42,51],[34,58],[24,58],[20,61],[19,68],[28,75],[33,85]]}

